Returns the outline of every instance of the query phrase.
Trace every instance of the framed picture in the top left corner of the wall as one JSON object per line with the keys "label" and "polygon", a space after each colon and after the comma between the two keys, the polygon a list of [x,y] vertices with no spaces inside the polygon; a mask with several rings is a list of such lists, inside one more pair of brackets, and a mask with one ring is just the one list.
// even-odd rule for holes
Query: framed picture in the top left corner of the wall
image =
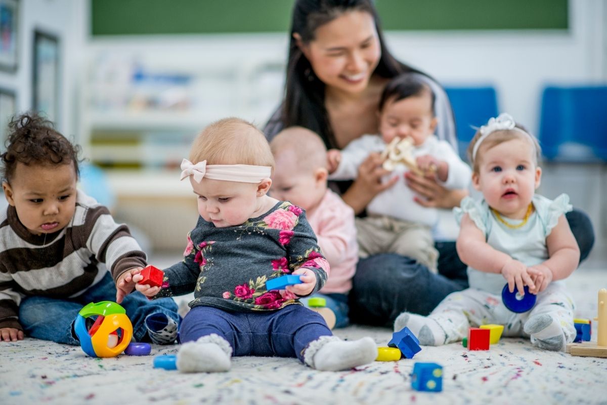
{"label": "framed picture in the top left corner of the wall", "polygon": [[17,70],[19,1],[0,0],[0,70]]}

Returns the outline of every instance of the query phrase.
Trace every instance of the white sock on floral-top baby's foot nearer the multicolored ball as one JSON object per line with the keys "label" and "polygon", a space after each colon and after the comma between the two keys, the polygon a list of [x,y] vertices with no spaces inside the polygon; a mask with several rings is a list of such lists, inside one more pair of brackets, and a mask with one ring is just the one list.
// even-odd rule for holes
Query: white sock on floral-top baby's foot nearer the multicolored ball
{"label": "white sock on floral-top baby's foot nearer the multicolored ball", "polygon": [[181,345],[177,353],[177,370],[182,373],[225,372],[229,370],[231,355],[228,341],[212,333]]}

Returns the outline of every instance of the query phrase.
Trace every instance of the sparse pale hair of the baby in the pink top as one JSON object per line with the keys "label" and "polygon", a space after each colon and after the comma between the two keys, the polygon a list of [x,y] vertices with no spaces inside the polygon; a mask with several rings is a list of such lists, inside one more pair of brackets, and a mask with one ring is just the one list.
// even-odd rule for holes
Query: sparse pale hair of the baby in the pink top
{"label": "sparse pale hair of the baby in the pink top", "polygon": [[327,168],[327,148],[316,132],[301,126],[283,129],[270,142],[275,157],[287,151],[293,152],[295,161],[302,171],[314,171]]}

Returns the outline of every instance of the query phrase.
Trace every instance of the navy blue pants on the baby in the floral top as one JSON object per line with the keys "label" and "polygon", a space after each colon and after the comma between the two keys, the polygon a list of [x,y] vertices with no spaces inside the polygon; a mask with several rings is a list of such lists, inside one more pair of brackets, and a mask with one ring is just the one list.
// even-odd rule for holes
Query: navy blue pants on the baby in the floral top
{"label": "navy blue pants on the baby in the floral top", "polygon": [[233,356],[297,357],[320,336],[331,336],[325,320],[302,305],[276,311],[234,312],[194,307],[183,318],[181,343],[216,333],[232,347]]}

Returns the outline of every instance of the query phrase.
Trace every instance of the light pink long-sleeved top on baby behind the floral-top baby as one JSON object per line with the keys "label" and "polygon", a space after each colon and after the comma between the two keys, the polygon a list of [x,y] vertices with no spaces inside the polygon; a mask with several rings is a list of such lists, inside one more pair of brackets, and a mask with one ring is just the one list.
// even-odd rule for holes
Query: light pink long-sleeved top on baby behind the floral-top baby
{"label": "light pink long-sleeved top on baby behind the floral-top baby", "polygon": [[347,294],[358,262],[354,211],[335,192],[327,189],[316,208],[307,211],[308,222],[318,245],[331,266],[327,283],[320,293]]}

